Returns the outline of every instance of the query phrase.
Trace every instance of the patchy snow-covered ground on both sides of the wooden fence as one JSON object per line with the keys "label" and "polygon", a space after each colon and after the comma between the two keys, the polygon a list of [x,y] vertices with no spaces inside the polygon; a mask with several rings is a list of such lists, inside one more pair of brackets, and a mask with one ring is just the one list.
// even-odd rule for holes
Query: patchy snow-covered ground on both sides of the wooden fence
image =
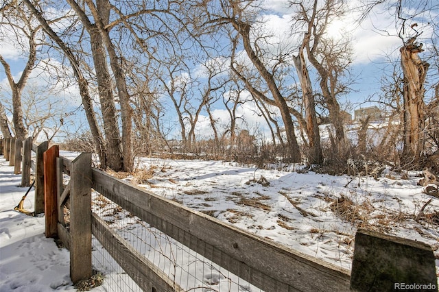
{"label": "patchy snow-covered ground on both sides of the wooden fence", "polygon": [[[414,220],[432,198],[416,184],[419,173],[385,171],[375,180],[264,170],[234,162],[143,158],[138,163],[134,175],[117,176],[344,269],[351,269],[357,227],[423,241],[434,248],[439,266],[439,199],[425,208],[423,219]],[[21,176],[12,172],[1,156],[0,292],[74,291],[69,252],[45,238],[44,217],[14,210],[27,188],[17,187]],[[24,207],[33,210],[33,202],[31,191]],[[119,287],[106,283],[93,291]]]}

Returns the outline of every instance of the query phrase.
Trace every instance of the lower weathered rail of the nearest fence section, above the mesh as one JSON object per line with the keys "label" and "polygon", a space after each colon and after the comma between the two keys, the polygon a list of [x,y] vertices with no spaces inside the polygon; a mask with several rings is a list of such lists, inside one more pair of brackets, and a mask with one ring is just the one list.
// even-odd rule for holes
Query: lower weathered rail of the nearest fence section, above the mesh
{"label": "lower weathered rail of the nearest fence section, above the mesh", "polygon": [[[184,291],[174,280],[158,269],[145,256],[134,250],[108,225],[93,214],[93,234],[107,252],[143,291]],[[152,289],[155,290],[152,290]]]}

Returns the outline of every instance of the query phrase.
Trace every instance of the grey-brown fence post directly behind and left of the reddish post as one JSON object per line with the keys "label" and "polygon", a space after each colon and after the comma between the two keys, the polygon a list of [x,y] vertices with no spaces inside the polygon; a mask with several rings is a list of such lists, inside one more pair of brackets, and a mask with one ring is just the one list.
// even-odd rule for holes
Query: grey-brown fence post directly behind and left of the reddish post
{"label": "grey-brown fence post directly behind and left of the reddish post", "polygon": [[36,147],[35,162],[35,215],[44,212],[44,158],[43,154],[49,148],[49,142],[45,141]]}

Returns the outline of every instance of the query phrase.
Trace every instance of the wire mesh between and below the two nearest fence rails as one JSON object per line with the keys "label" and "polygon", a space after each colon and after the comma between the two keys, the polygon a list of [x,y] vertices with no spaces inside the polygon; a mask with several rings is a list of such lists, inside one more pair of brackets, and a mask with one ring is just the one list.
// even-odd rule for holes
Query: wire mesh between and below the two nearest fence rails
{"label": "wire mesh between and below the two nearest fence rails", "polygon": [[[175,291],[261,291],[102,195],[94,193],[92,209],[110,230],[167,275]],[[93,268],[106,278],[104,289],[142,291],[95,238],[92,254]]]}

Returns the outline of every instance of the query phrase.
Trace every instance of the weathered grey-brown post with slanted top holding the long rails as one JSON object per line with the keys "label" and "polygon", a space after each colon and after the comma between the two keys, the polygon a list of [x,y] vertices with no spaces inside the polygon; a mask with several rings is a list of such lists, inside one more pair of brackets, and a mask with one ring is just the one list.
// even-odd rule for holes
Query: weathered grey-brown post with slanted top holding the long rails
{"label": "weathered grey-brown post with slanted top holding the long rails", "polygon": [[91,153],[71,162],[70,186],[70,278],[75,283],[92,276]]}

